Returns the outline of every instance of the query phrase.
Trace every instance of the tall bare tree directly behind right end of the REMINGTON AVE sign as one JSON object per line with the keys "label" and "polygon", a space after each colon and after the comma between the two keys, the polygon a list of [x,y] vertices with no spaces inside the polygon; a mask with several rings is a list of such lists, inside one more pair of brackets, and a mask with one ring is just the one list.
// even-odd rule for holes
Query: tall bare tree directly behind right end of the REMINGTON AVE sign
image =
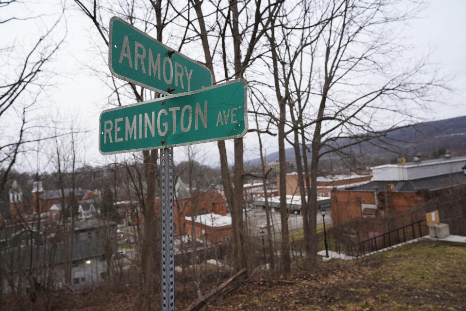
{"label": "tall bare tree directly behind right end of the REMINGTON AVE sign", "polygon": [[[275,18],[277,8],[281,1],[263,4],[261,1],[255,2],[254,6],[248,3],[229,1],[223,3],[217,1],[210,6],[205,13],[201,6],[202,2],[193,0],[193,6],[198,17],[199,29],[195,32],[200,36],[204,50],[206,66],[214,71],[214,62],[218,61],[223,65],[224,78],[244,78],[245,71],[250,68],[252,63],[260,54],[256,47],[265,34],[267,27]],[[213,17],[210,20],[206,17]],[[252,16],[253,18],[250,18]],[[211,29],[208,29],[208,22],[211,22]],[[212,38],[212,40],[209,40]],[[218,45],[221,51],[218,51]],[[232,49],[232,50],[231,50]],[[229,59],[233,59],[232,64]],[[233,73],[229,68],[233,67]],[[214,83],[217,81],[215,75]],[[234,176],[233,185],[231,184],[231,175],[228,168],[227,153],[225,142],[217,143],[220,165],[222,172],[223,189],[227,202],[232,211],[233,222],[233,254],[235,256],[235,271],[247,267],[246,237],[243,231],[243,139],[234,140]]]}

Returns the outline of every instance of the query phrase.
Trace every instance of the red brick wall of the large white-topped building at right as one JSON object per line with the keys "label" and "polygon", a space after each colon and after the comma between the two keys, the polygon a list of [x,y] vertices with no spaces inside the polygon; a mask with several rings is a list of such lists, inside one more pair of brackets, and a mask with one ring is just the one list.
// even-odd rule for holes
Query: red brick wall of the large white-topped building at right
{"label": "red brick wall of the large white-topped building at right", "polygon": [[[453,230],[463,234],[466,208],[459,203],[466,202],[466,199],[462,201],[459,197],[461,193],[464,195],[465,189],[465,185],[458,185],[433,191],[381,191],[378,195],[380,209],[375,217],[363,217],[361,210],[362,204],[376,204],[374,191],[332,190],[333,229],[339,231],[335,232],[335,236],[339,235],[337,239],[345,241],[344,235],[348,236],[350,232],[359,241],[364,240],[373,234],[371,232],[384,233],[423,220],[426,212],[435,209],[441,212],[441,221],[449,220]],[[427,234],[425,223],[422,223],[421,230],[423,235]],[[403,234],[412,236],[413,228],[406,227],[404,231],[394,235],[403,239]],[[414,227],[414,234],[418,236],[418,226]]]}

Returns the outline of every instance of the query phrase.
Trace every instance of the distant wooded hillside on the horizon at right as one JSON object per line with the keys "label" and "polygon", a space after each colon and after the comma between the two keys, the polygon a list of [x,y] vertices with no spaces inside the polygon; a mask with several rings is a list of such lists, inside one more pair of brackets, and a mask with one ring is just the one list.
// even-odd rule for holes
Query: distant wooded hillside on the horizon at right
{"label": "distant wooded hillside on the horizon at right", "polygon": [[[336,145],[344,145],[348,139],[340,139]],[[386,149],[390,150],[386,150]],[[346,148],[346,152],[370,157],[390,158],[399,154],[412,156],[416,152],[431,153],[439,148],[446,148],[451,152],[466,150],[466,116],[416,123],[397,129],[387,135],[382,141],[363,142]],[[285,150],[286,159],[294,161],[293,148]],[[331,155],[336,157],[337,155]],[[278,152],[268,154],[267,162],[278,160]],[[250,164],[259,163],[260,159],[249,161]]]}

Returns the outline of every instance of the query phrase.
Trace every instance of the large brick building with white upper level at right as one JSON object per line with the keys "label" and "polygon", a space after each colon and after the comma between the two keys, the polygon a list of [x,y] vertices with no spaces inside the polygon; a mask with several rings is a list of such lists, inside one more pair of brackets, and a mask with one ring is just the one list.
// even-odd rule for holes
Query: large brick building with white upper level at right
{"label": "large brick building with white upper level at right", "polygon": [[456,157],[373,167],[370,181],[332,190],[333,225],[364,223],[357,233],[363,239],[424,219],[428,202],[464,187],[465,164]]}

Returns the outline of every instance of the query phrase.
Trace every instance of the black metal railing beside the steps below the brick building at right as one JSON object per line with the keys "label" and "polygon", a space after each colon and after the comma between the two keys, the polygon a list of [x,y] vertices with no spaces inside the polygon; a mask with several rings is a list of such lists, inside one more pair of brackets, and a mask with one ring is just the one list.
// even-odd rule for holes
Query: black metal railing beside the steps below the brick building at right
{"label": "black metal railing beside the steps below the brick building at right", "polygon": [[[333,250],[338,254],[345,254],[352,257],[361,257],[383,248],[391,247],[399,243],[408,242],[422,237],[421,223],[425,221],[425,219],[418,220],[414,223],[404,225],[402,227],[387,231],[354,244],[332,240],[327,240],[327,244],[329,250]],[[323,241],[319,242],[323,243]]]}

